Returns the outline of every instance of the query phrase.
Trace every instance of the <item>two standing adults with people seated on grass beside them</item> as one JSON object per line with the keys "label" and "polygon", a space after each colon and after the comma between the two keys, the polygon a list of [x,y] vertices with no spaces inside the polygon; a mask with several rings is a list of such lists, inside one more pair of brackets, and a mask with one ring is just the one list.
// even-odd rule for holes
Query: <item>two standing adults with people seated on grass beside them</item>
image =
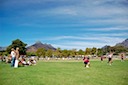
{"label": "two standing adults with people seated on grass beside them", "polygon": [[30,66],[36,65],[36,60],[34,58],[30,58],[28,61],[24,57],[20,57],[19,48],[16,50],[14,48],[11,49],[11,67],[17,68],[18,66]]}

